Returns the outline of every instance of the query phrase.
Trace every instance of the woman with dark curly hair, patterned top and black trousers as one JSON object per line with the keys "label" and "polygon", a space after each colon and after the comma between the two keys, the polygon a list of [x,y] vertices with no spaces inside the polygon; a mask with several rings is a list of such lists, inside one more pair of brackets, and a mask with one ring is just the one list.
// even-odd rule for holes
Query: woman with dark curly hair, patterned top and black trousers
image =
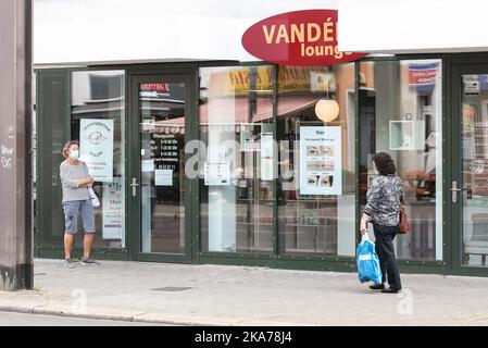
{"label": "woman with dark curly hair, patterned top and black trousers", "polygon": [[[396,175],[392,158],[385,152],[373,157],[373,169],[377,176],[366,194],[366,207],[361,219],[361,234],[367,232],[367,222],[373,223],[375,249],[383,273],[381,284],[370,285],[371,289],[386,294],[397,294],[401,289],[400,272],[395,257],[393,239],[399,233],[400,198],[402,181]],[[389,287],[385,288],[388,276]]]}

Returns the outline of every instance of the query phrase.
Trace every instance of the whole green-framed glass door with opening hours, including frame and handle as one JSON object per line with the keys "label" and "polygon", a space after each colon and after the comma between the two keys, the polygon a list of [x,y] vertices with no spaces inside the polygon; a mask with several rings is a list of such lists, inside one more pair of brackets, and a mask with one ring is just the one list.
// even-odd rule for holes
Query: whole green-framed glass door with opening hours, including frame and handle
{"label": "whole green-framed glass door with opening hours, including frame and handle", "polygon": [[189,261],[190,228],[185,219],[189,76],[133,76],[132,88],[135,147],[129,195],[137,259]]}

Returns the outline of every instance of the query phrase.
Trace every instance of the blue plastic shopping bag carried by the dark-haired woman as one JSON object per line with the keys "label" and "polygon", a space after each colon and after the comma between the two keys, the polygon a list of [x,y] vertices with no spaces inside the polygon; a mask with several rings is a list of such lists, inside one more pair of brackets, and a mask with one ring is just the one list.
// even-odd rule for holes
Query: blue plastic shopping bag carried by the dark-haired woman
{"label": "blue plastic shopping bag carried by the dark-haired woman", "polygon": [[356,248],[358,275],[361,283],[374,282],[381,284],[381,269],[375,244],[370,240],[367,233],[363,235]]}

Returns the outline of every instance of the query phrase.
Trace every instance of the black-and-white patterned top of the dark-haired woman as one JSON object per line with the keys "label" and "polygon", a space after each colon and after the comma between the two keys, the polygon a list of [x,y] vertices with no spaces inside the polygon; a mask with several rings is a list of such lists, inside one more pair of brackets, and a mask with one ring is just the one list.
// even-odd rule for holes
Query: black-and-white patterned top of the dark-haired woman
{"label": "black-and-white patterned top of the dark-haired woman", "polygon": [[384,226],[400,224],[400,197],[403,183],[397,175],[378,175],[366,194],[364,213],[372,222]]}

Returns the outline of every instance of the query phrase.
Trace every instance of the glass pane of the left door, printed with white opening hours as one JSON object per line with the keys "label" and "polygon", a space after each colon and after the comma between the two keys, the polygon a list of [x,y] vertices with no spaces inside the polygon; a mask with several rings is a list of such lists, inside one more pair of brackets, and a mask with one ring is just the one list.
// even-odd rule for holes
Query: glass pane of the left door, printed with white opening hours
{"label": "glass pane of the left door, printed with white opening hours", "polygon": [[185,252],[186,84],[139,84],[140,251]]}

